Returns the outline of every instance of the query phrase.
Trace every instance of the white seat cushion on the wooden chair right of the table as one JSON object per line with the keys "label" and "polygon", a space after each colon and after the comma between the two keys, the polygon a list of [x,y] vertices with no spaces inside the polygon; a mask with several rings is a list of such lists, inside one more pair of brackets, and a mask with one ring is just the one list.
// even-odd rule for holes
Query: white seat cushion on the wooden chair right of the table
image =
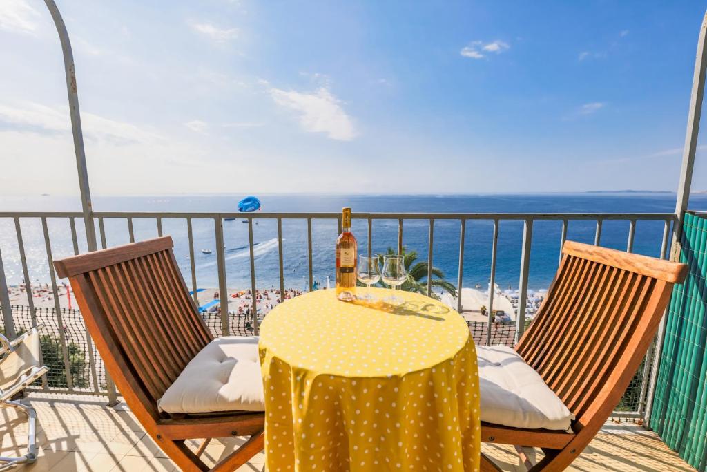
{"label": "white seat cushion on the wooden chair right of the table", "polygon": [[513,348],[477,346],[477,355],[481,421],[571,432],[570,410]]}

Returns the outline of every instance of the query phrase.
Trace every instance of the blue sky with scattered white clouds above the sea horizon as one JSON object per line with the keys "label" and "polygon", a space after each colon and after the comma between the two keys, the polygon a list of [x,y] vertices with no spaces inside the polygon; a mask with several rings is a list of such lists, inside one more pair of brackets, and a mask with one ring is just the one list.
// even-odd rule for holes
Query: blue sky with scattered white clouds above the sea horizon
{"label": "blue sky with scattered white clouds above the sea horizon", "polygon": [[[94,195],[674,191],[707,7],[57,4]],[[0,64],[0,195],[78,194],[42,0],[0,1]]]}

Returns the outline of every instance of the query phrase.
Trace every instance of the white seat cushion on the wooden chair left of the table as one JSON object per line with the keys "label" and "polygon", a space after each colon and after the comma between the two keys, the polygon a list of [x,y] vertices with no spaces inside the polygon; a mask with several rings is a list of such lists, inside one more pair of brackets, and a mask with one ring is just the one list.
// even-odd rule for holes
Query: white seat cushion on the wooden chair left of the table
{"label": "white seat cushion on the wooden chair left of the table", "polygon": [[257,336],[211,341],[157,404],[167,413],[264,411]]}

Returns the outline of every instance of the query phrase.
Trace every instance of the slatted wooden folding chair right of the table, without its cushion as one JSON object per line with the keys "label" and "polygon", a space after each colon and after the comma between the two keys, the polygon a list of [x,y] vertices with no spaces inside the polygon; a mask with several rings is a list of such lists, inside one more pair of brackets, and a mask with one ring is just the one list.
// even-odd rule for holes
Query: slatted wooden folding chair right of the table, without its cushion
{"label": "slatted wooden folding chair right of the table, without its cushion", "polygon": [[[481,440],[516,446],[531,471],[562,471],[609,418],[653,342],[687,266],[567,241],[547,298],[516,352],[575,415],[573,432],[481,423]],[[532,464],[524,447],[544,457]],[[500,470],[483,456],[481,469]]]}

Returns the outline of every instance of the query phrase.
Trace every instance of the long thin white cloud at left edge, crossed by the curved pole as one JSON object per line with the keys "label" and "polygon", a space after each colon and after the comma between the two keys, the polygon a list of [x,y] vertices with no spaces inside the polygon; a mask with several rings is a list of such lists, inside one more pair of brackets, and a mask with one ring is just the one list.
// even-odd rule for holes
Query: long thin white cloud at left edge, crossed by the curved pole
{"label": "long thin white cloud at left edge, crossed by the curved pole", "polygon": [[[125,122],[110,120],[93,113],[81,112],[83,136],[96,142],[136,144],[155,142],[157,134]],[[23,102],[16,105],[0,103],[0,132],[5,130],[35,134],[70,134],[69,110],[52,108],[40,103]]]}

